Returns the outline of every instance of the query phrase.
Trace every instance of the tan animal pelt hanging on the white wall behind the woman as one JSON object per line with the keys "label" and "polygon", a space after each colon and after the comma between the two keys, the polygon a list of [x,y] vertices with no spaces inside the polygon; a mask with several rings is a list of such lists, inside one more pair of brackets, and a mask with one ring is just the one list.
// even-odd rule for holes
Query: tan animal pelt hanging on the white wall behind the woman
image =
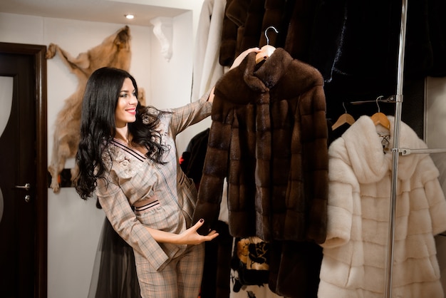
{"label": "tan animal pelt hanging on the white wall behind the woman", "polygon": [[[78,78],[76,91],[66,98],[65,105],[59,111],[54,129],[53,151],[48,171],[51,174],[51,188],[59,192],[58,175],[63,170],[67,158],[74,158],[78,150],[81,125],[81,108],[85,85],[98,68],[110,66],[128,71],[130,68],[130,28],[124,28],[104,39],[100,45],[80,53],[73,58],[67,51],[51,43],[46,52],[46,58],[53,58],[56,53],[66,64],[69,71]],[[78,168],[71,169],[72,181],[76,178]],[[73,181],[74,182],[74,181]]]}

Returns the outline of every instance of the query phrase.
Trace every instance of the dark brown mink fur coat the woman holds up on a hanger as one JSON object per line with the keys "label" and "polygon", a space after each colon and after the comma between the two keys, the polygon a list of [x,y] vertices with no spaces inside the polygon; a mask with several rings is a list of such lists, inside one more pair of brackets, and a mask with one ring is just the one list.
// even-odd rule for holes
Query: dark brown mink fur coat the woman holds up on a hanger
{"label": "dark brown mink fur coat the woman holds up on a hanger", "polygon": [[[316,297],[326,239],[328,128],[321,74],[276,48],[215,86],[194,222],[214,228],[227,178],[229,234],[271,242],[269,287]],[[300,294],[299,294],[300,293]]]}

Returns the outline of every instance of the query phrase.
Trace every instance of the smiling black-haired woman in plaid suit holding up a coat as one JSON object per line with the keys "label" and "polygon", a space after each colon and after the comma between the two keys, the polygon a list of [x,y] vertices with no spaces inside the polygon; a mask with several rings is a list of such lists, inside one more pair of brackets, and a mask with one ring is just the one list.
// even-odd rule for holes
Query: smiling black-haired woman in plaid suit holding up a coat
{"label": "smiling black-haired woman in plaid suit holding up a coat", "polygon": [[[244,51],[234,61],[258,48]],[[197,190],[178,165],[175,136],[210,115],[213,94],[182,108],[140,108],[133,76],[100,68],[83,98],[76,190],[97,195],[120,237],[133,247],[142,297],[197,297],[204,242],[192,226]]]}

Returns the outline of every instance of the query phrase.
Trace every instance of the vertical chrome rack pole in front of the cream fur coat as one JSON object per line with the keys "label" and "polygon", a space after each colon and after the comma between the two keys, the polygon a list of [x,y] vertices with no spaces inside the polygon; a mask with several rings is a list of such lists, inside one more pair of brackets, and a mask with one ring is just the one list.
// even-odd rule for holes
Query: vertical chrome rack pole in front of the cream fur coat
{"label": "vertical chrome rack pole in front of the cream fur coat", "polygon": [[405,52],[405,31],[407,21],[408,0],[403,0],[401,7],[401,29],[400,29],[400,46],[398,52],[398,81],[395,106],[395,124],[393,128],[393,155],[392,155],[392,185],[390,193],[390,213],[389,213],[389,230],[388,230],[388,254],[387,268],[385,279],[385,298],[392,297],[392,275],[393,275],[393,242],[395,238],[395,205],[398,183],[398,155],[400,143],[400,120],[401,108],[403,103],[403,80],[404,80],[404,52]]}

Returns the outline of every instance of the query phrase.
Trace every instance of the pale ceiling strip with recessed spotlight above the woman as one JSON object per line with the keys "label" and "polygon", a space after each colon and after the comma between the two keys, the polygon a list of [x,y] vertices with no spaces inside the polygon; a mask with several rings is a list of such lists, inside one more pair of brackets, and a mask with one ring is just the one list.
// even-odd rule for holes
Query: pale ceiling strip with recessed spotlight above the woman
{"label": "pale ceiling strip with recessed spotlight above the woman", "polygon": [[[175,1],[179,3],[175,6]],[[0,0],[0,12],[57,19],[98,21],[138,26],[152,26],[157,16],[173,17],[187,11],[190,0]],[[182,2],[182,4],[181,4]],[[180,7],[180,8],[176,8]],[[125,19],[134,14],[135,19]]]}

